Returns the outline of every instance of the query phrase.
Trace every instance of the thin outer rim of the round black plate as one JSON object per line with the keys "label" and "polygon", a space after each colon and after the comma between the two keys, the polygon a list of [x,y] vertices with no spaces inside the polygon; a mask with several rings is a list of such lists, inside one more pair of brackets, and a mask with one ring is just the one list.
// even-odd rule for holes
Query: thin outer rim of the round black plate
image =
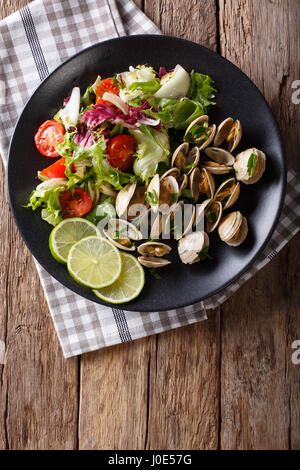
{"label": "thin outer rim of the round black plate", "polygon": [[[73,54],[72,56],[70,56],[68,59],[66,59],[64,62],[62,62],[61,64],[59,64],[56,68],[54,68],[52,70],[52,72],[45,78],[43,79],[39,84],[38,86],[34,89],[34,91],[31,93],[30,97],[28,98],[28,100],[26,101],[25,105],[23,106],[22,108],[22,111],[20,112],[20,115],[17,119],[17,122],[14,126],[14,130],[13,130],[13,133],[12,133],[12,137],[10,139],[10,143],[9,143],[9,149],[8,149],[8,159],[7,159],[7,165],[6,165],[6,186],[7,186],[7,193],[8,193],[8,200],[9,200],[9,205],[10,205],[10,209],[12,211],[12,214],[13,214],[13,218],[14,218],[14,222],[18,228],[18,231],[26,245],[26,247],[28,248],[31,256],[33,256],[33,258],[35,259],[36,262],[38,262],[42,267],[43,269],[45,269],[47,271],[47,273],[52,276],[57,282],[61,283],[65,288],[67,289],[70,289],[74,294],[76,295],[79,295],[80,297],[83,297],[91,302],[94,302],[96,304],[100,304],[100,305],[104,305],[106,307],[109,307],[109,308],[112,308],[112,304],[109,304],[109,303],[106,303],[104,301],[102,301],[101,299],[95,299],[95,300],[92,300],[88,295],[84,295],[84,293],[78,293],[76,292],[75,290],[73,290],[71,287],[67,286],[64,284],[64,282],[60,281],[60,280],[57,280],[56,277],[50,273],[48,271],[48,268],[44,265],[44,263],[40,263],[40,261],[33,255],[31,249],[30,249],[30,246],[29,246],[29,243],[27,242],[25,236],[23,235],[23,231],[22,231],[22,228],[19,224],[19,221],[17,219],[17,216],[16,216],[16,213],[15,213],[15,209],[14,209],[14,204],[12,202],[12,193],[11,193],[11,185],[10,185],[10,179],[9,179],[9,174],[10,174],[10,168],[11,168],[11,149],[12,149],[12,145],[13,145],[13,142],[14,142],[14,137],[15,137],[15,133],[17,131],[17,128],[19,126],[19,123],[22,119],[22,116],[23,116],[23,113],[25,111],[25,109],[27,108],[28,104],[30,103],[30,101],[32,100],[33,96],[37,93],[37,91],[47,82],[48,79],[50,79],[52,77],[52,75],[54,75],[59,69],[61,69],[62,67],[64,67],[67,63],[69,63],[70,61],[72,61],[73,59],[75,59],[76,57],[82,55],[82,54],[85,54],[87,51],[91,50],[91,49],[94,49],[94,48],[97,48],[99,47],[100,45],[106,45],[106,44],[111,44],[113,42],[119,42],[119,41],[131,41],[131,40],[136,40],[136,39],[150,39],[150,38],[155,38],[155,39],[167,39],[167,40],[172,40],[172,41],[175,41],[175,42],[181,42],[181,43],[186,43],[187,45],[193,45],[193,46],[197,46],[197,47],[200,47],[206,51],[208,51],[210,54],[212,55],[215,55],[215,56],[218,56],[218,58],[221,60],[221,61],[225,61],[227,63],[229,63],[232,67],[234,67],[240,74],[242,74],[244,76],[244,78],[253,86],[255,87],[257,93],[261,96],[261,98],[263,99],[263,101],[265,102],[265,105],[267,106],[269,112],[270,112],[270,115],[273,117],[273,123],[275,125],[275,131],[279,137],[279,144],[280,144],[280,153],[281,153],[281,156],[282,156],[282,159],[281,159],[281,164],[282,164],[282,178],[281,178],[281,181],[280,181],[280,184],[281,184],[281,192],[280,192],[280,202],[279,202],[279,205],[277,207],[277,211],[276,211],[276,215],[274,217],[274,220],[273,220],[273,223],[272,223],[272,226],[268,232],[268,234],[266,235],[265,237],[265,240],[264,242],[262,243],[262,245],[260,246],[260,248],[257,250],[257,252],[255,253],[255,255],[251,258],[251,260],[244,266],[243,269],[241,269],[235,276],[233,276],[229,281],[227,282],[224,282],[220,287],[212,290],[209,294],[207,295],[204,295],[202,296],[201,298],[199,298],[199,300],[196,302],[196,303],[193,303],[193,304],[187,304],[186,302],[183,302],[183,303],[177,303],[176,306],[174,305],[170,305],[169,307],[167,308],[164,308],[163,310],[160,310],[160,309],[156,309],[155,311],[158,311],[158,312],[163,312],[163,311],[169,311],[169,310],[176,310],[176,309],[180,309],[180,308],[185,308],[187,306],[190,306],[190,305],[197,305],[198,303],[201,303],[203,302],[204,300],[208,299],[208,298],[211,298],[215,295],[217,295],[218,293],[222,292],[223,290],[225,290],[228,286],[230,286],[231,284],[233,284],[234,282],[236,282],[241,276],[243,276],[243,274],[251,267],[253,266],[253,264],[255,263],[255,261],[257,260],[257,258],[259,257],[259,255],[263,252],[263,250],[265,249],[266,245],[268,244],[268,242],[270,241],[275,229],[276,229],[276,226],[278,224],[278,221],[279,221],[279,218],[280,218],[280,215],[281,215],[281,212],[282,212],[282,209],[283,209],[283,205],[284,205],[284,199],[285,199],[285,195],[286,195],[286,187],[287,187],[287,161],[286,161],[286,153],[285,153],[285,148],[284,148],[284,143],[283,143],[283,139],[282,139],[282,134],[281,134],[281,130],[280,130],[280,127],[279,127],[279,124],[273,114],[273,111],[271,109],[271,106],[269,105],[269,103],[267,102],[266,98],[264,97],[263,93],[259,90],[259,88],[256,86],[256,84],[248,77],[248,75],[246,75],[245,72],[243,72],[237,65],[235,65],[233,62],[231,62],[229,59],[227,59],[226,57],[223,57],[221,54],[219,54],[218,52],[212,50],[212,49],[209,49],[208,47],[206,46],[203,46],[202,44],[198,44],[196,42],[193,42],[193,41],[190,41],[188,39],[183,39],[183,38],[177,38],[177,37],[173,37],[173,36],[169,36],[169,35],[164,35],[164,34],[137,34],[137,35],[132,35],[132,36],[120,36],[120,37],[116,37],[116,38],[112,38],[112,39],[107,39],[105,41],[99,41],[99,42],[96,42],[95,44],[92,44],[84,49],[81,49],[80,51],[76,52],[75,54]],[[133,308],[131,308],[131,305],[130,305],[130,302],[127,304],[127,303],[123,303],[123,304],[118,304],[118,308],[120,309],[124,309],[124,310],[128,310],[128,311],[133,311],[133,312],[136,312],[137,310],[134,310]],[[139,308],[139,311],[140,312],[148,312],[149,309],[146,309],[146,308],[142,308],[140,307]]]}

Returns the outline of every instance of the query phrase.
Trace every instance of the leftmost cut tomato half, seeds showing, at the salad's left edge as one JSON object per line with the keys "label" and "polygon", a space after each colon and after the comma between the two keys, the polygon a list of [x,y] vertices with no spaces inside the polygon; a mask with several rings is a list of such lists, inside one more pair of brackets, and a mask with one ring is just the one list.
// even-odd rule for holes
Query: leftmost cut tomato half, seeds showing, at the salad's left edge
{"label": "leftmost cut tomato half, seeds showing, at the salad's left edge", "polygon": [[35,145],[39,152],[45,157],[59,157],[55,145],[63,142],[66,130],[64,126],[57,121],[45,121],[35,134]]}

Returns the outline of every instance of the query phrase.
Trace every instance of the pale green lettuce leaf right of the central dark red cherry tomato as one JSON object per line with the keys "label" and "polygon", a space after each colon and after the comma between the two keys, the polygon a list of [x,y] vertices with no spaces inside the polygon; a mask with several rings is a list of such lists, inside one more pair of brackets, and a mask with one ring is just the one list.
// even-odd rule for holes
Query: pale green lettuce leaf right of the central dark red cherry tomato
{"label": "pale green lettuce leaf right of the central dark red cherry tomato", "polygon": [[142,181],[148,181],[157,172],[159,163],[169,163],[170,146],[168,136],[164,132],[140,126],[129,133],[137,142],[136,160],[133,171]]}

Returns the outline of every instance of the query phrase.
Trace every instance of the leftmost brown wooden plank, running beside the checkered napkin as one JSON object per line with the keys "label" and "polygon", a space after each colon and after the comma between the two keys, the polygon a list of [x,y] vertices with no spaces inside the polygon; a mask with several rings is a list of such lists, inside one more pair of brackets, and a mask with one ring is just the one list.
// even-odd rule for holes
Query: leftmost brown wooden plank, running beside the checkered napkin
{"label": "leftmost brown wooden plank, running beside the checkered napkin", "polygon": [[[29,3],[1,2],[0,17]],[[0,178],[5,181],[3,165]],[[74,449],[77,442],[77,359],[63,358],[30,253],[0,188],[0,448]]]}

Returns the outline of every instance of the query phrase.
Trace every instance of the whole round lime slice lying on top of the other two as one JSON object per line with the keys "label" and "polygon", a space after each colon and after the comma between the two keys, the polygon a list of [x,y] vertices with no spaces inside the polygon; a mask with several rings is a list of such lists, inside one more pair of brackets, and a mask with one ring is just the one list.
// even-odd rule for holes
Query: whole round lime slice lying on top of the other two
{"label": "whole round lime slice lying on top of the other two", "polygon": [[115,282],[121,273],[122,261],[117,248],[101,237],[87,237],[72,246],[68,270],[75,281],[98,289]]}

